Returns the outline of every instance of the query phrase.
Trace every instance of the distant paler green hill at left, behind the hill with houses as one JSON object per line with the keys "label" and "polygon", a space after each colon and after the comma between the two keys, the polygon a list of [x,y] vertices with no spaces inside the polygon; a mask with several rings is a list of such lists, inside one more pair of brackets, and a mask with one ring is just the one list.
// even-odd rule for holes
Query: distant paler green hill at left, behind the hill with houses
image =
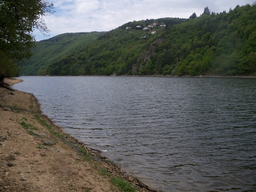
{"label": "distant paler green hill at left, behind the hill with houses", "polygon": [[19,63],[20,75],[37,75],[38,71],[64,56],[74,53],[88,42],[96,40],[106,32],[64,33],[47,40],[36,42],[33,56]]}

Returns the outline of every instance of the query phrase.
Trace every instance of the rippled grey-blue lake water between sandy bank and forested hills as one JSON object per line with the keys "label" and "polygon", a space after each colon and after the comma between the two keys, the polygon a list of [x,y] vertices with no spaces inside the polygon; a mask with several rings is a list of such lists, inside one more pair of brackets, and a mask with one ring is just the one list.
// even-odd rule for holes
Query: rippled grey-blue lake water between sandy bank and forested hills
{"label": "rippled grey-blue lake water between sandy bank and forested hills", "polygon": [[256,191],[256,79],[20,78],[55,124],[159,191]]}

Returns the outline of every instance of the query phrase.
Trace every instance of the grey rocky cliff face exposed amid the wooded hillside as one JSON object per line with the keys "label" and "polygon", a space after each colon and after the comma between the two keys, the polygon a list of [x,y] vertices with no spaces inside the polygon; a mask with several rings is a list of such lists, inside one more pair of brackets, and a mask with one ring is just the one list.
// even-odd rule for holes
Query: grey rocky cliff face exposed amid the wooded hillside
{"label": "grey rocky cliff face exposed amid the wooded hillside", "polygon": [[159,44],[164,43],[164,38],[159,38],[153,43],[149,44],[149,47],[147,48],[146,51],[140,53],[139,57],[137,58],[137,63],[132,65],[132,73],[137,74],[138,69],[137,69],[137,64],[140,63],[139,68],[142,68],[147,65],[148,60],[150,60],[150,55],[153,55],[155,53],[155,48]]}

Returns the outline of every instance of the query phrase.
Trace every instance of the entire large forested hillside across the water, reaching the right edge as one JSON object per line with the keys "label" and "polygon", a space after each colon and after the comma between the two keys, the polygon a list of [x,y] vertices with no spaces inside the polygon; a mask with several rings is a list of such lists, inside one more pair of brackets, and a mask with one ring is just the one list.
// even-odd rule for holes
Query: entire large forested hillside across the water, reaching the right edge
{"label": "entire large forested hillside across the water, reaching the right edge", "polygon": [[[193,13],[188,20],[133,21],[39,74],[255,75],[255,21],[256,5],[249,4],[221,13],[210,13],[206,7],[202,15]],[[149,30],[142,30],[154,23]],[[156,33],[149,34],[152,30]]]}

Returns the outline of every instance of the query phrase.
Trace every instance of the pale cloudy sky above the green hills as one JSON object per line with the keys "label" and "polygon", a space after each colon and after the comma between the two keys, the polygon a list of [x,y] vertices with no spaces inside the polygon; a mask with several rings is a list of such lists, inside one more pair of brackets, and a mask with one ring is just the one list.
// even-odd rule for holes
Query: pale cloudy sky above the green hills
{"label": "pale cloudy sky above the green hills", "polygon": [[36,41],[62,33],[109,31],[129,22],[165,17],[197,16],[208,6],[222,12],[256,0],[50,0],[55,13],[44,18],[50,37],[34,31]]}

